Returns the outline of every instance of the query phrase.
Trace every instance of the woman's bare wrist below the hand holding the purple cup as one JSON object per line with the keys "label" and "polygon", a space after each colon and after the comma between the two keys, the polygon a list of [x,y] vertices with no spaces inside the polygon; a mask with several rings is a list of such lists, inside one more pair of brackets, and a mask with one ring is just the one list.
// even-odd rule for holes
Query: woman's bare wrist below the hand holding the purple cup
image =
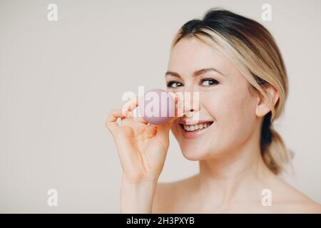
{"label": "woman's bare wrist below the hand holding the purple cup", "polygon": [[131,182],[123,178],[121,183],[121,213],[151,213],[156,181]]}

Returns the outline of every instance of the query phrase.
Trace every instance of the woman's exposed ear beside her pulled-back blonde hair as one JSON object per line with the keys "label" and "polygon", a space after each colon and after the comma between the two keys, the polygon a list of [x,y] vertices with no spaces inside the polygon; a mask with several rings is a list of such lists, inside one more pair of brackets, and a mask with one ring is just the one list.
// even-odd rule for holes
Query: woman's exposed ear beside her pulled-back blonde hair
{"label": "woman's exposed ear beside her pulled-back blonde hair", "polygon": [[272,103],[272,105],[275,106],[277,100],[279,100],[280,98],[279,92],[274,86],[267,84],[262,86],[262,88],[265,91],[268,100],[265,99],[262,93],[259,93],[258,102],[255,108],[255,114],[258,117],[263,117],[264,115],[269,113],[271,110],[270,104]]}

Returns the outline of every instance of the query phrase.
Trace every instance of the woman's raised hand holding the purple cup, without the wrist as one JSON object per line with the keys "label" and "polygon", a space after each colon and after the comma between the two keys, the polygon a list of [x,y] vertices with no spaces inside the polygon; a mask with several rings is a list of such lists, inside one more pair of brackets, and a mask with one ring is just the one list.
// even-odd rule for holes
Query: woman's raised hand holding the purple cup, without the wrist
{"label": "woman's raised hand holding the purple cup, without the wrist", "polygon": [[[175,97],[175,104],[178,98]],[[149,125],[143,118],[133,118],[138,98],[121,109],[111,110],[106,126],[113,135],[123,167],[123,180],[131,184],[157,182],[169,147],[170,125]],[[176,114],[176,111],[175,111]],[[176,116],[176,115],[175,115]],[[121,125],[116,120],[121,118]]]}

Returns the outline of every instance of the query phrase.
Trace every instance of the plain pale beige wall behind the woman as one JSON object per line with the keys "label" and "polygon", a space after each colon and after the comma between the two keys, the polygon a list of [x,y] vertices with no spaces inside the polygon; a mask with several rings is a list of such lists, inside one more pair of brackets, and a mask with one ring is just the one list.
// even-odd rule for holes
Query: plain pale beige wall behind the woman
{"label": "plain pale beige wall behind the woman", "polygon": [[[47,6],[58,6],[58,21]],[[272,6],[272,21],[261,6]],[[105,128],[121,95],[165,88],[170,43],[214,6],[265,25],[290,79],[277,130],[285,178],[321,202],[321,1],[0,1],[0,212],[118,212],[121,165]],[[198,172],[171,145],[161,181]],[[47,190],[58,190],[58,207]]]}

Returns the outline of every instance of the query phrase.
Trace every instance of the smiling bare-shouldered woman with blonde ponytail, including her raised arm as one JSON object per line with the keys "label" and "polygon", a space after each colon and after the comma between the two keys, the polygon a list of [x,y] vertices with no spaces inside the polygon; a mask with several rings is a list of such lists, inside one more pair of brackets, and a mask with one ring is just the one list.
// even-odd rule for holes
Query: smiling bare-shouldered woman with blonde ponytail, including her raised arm
{"label": "smiling bare-shouldered woman with blonde ponytail, including her raised arm", "polygon": [[[221,9],[188,21],[174,38],[165,81],[174,94],[198,92],[198,106],[185,105],[183,116],[155,126],[133,119],[133,100],[106,120],[123,167],[121,212],[321,212],[277,177],[290,161],[272,128],[285,106],[287,73],[266,28]],[[169,130],[200,172],[158,184]]]}

